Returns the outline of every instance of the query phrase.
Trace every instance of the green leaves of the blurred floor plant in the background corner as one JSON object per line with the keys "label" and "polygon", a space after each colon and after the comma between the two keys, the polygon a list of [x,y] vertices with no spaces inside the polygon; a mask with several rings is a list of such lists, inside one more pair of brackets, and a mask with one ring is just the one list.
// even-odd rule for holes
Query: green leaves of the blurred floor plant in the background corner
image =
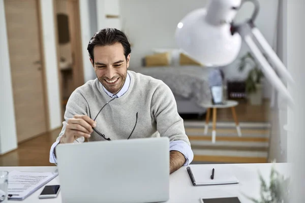
{"label": "green leaves of the blurred floor plant in the background corner", "polygon": [[[266,56],[265,56],[266,57]],[[240,63],[238,66],[239,72],[242,72],[246,69],[247,64],[254,64],[252,69],[249,71],[248,77],[246,79],[246,92],[251,94],[257,91],[257,84],[261,84],[261,80],[264,77],[263,72],[259,68],[258,62],[252,56],[250,52],[247,52],[244,56],[241,57]]]}

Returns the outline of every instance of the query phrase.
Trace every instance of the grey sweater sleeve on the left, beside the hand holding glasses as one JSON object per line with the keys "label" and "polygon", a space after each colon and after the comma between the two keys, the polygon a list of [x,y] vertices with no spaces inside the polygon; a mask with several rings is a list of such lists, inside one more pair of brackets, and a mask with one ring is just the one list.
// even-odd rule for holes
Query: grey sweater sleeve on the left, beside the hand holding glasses
{"label": "grey sweater sleeve on the left, beside the hand holding glasses", "polygon": [[[64,115],[65,120],[63,121],[62,131],[60,131],[59,136],[51,146],[50,159],[49,159],[50,163],[56,164],[57,162],[54,149],[59,144],[60,138],[65,133],[68,120],[70,118],[73,118],[74,115],[87,115],[87,112],[88,112],[87,101],[83,96],[83,94],[78,89],[76,89],[75,91],[72,92],[71,96],[68,99],[68,103],[66,105],[66,111]],[[84,138],[81,137],[75,140],[74,144],[83,143],[83,142],[84,142]]]}

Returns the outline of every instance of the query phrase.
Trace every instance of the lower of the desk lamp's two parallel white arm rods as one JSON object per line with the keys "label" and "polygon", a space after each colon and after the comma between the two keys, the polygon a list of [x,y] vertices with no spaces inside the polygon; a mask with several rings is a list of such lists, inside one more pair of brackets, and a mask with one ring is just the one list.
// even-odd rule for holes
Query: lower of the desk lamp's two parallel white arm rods
{"label": "lower of the desk lamp's two parallel white arm rods", "polygon": [[266,58],[260,52],[256,44],[252,40],[251,36],[245,35],[243,37],[243,40],[247,43],[254,57],[260,63],[262,67],[262,72],[265,74],[266,78],[269,79],[270,83],[278,90],[279,93],[283,94],[283,96],[288,100],[288,105],[293,108],[294,103],[292,96],[290,95],[287,88],[282,83],[276,72],[272,69]]}

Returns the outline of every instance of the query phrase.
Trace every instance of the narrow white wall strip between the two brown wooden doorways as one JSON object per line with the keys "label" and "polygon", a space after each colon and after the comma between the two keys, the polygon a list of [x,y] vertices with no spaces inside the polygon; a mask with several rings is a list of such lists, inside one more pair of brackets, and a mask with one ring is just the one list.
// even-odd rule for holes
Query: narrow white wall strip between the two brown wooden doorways
{"label": "narrow white wall strip between the two brown wooden doorways", "polygon": [[50,129],[62,125],[53,0],[40,0]]}

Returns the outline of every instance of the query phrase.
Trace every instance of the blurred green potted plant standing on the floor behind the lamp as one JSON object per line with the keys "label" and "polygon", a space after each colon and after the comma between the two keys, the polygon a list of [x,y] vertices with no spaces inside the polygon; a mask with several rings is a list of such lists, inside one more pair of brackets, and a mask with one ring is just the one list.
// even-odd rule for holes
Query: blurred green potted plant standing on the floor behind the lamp
{"label": "blurred green potted plant standing on the floor behind the lamp", "polygon": [[252,66],[246,78],[246,93],[251,105],[261,105],[263,99],[262,78],[264,74],[259,68],[258,62],[250,52],[240,59],[238,70],[242,72],[246,69],[247,64]]}

